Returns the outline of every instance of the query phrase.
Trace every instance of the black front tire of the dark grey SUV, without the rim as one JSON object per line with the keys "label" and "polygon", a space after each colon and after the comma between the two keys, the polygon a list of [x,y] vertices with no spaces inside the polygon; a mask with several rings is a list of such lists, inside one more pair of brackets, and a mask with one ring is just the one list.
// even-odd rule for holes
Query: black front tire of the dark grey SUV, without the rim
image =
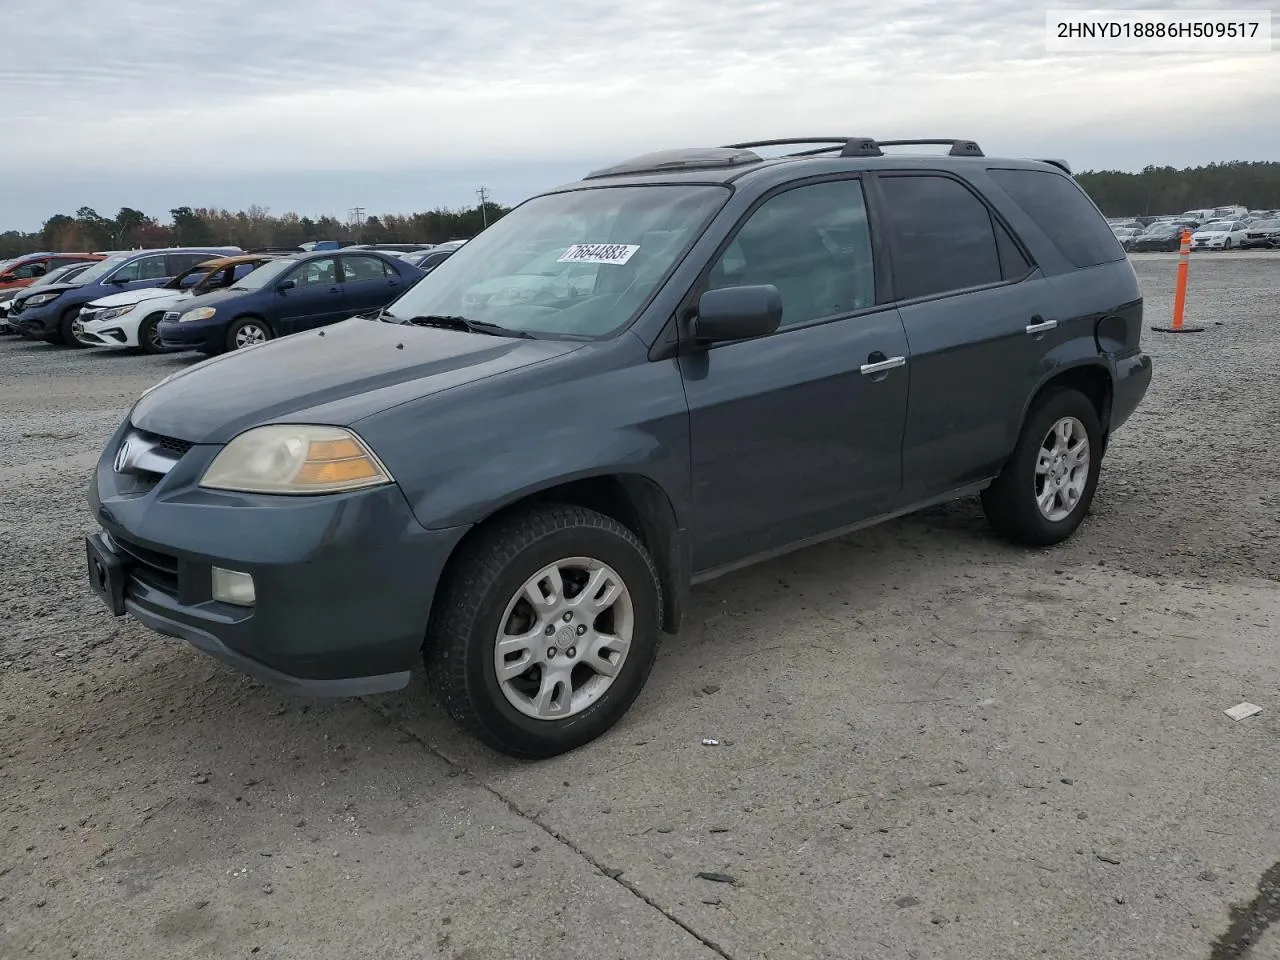
{"label": "black front tire of the dark grey SUV, without the rim", "polygon": [[[599,699],[563,719],[536,719],[503,694],[494,646],[507,604],[525,581],[571,557],[593,558],[617,572],[631,596],[631,646]],[[653,669],[660,625],[658,570],[635,534],[581,507],[539,506],[497,520],[451,562],[428,626],[428,682],[480,741],[520,759],[554,756],[595,740],[622,718]]]}

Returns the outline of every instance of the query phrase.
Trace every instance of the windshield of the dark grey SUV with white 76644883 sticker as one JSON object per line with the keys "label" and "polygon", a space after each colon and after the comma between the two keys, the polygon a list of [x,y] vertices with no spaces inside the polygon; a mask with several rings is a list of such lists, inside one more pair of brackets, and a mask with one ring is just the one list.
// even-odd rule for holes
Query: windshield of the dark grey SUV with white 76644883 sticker
{"label": "windshield of the dark grey SUV with white 76644883 sticker", "polygon": [[603,187],[535,197],[390,305],[547,337],[628,325],[728,198],[714,186]]}

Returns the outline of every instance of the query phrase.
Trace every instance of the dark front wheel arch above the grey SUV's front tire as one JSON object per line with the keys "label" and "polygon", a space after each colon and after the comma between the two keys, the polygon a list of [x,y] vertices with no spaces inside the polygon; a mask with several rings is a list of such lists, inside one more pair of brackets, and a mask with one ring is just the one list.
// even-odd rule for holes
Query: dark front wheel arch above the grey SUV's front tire
{"label": "dark front wheel arch above the grey SUV's front tire", "polygon": [[691,581],[689,541],[667,492],[652,477],[628,472],[593,474],[547,483],[495,506],[453,545],[435,586],[433,608],[460,553],[481,530],[512,513],[549,503],[568,503],[595,511],[635,534],[658,568],[663,598],[662,627],[668,634],[680,630]]}

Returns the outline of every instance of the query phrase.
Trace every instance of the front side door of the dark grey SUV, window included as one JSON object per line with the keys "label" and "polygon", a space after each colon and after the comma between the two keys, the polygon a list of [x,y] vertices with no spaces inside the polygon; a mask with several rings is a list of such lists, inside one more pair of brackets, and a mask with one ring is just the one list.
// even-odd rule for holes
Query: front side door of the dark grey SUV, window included
{"label": "front side door of the dark grey SUV, window included", "polygon": [[782,294],[777,333],[680,360],[699,572],[867,520],[897,494],[910,358],[874,275],[850,178],[767,198],[694,291]]}

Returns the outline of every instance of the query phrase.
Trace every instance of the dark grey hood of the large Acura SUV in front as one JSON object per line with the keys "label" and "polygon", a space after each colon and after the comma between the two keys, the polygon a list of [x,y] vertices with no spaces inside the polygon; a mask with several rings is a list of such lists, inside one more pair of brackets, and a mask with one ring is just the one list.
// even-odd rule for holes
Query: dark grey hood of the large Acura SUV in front
{"label": "dark grey hood of the large Acura SUV in front", "polygon": [[143,393],[129,420],[189,443],[227,443],[269,422],[349,426],[582,346],[353,317],[180,370]]}

